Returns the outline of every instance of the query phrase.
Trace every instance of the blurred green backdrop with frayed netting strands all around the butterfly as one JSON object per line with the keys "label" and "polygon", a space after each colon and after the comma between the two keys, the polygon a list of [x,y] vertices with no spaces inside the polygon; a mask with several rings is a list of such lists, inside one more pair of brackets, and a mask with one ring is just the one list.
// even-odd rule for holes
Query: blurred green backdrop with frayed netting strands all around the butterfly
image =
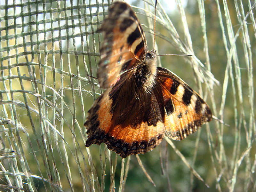
{"label": "blurred green backdrop with frayed netting strands all around the butterfly", "polygon": [[[151,50],[155,2],[127,3]],[[164,140],[139,155],[155,186],[136,156],[122,160],[104,144],[85,148],[86,113],[102,92],[91,77],[97,28],[110,4],[0,1],[0,148],[10,149],[0,156],[0,191],[255,191],[255,2],[158,2],[157,53],[193,54],[161,56],[158,64],[230,126],[212,120],[173,141],[175,149]]]}

